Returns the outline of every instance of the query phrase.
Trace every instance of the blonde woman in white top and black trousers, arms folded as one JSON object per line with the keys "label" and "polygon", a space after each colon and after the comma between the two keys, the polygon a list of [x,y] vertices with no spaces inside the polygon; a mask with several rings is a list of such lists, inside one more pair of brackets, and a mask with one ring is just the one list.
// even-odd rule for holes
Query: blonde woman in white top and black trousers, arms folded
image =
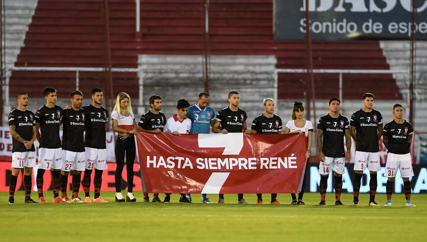
{"label": "blonde woman in white top and black trousers, arms folded", "polygon": [[131,98],[127,93],[119,93],[114,110],[111,113],[111,121],[113,131],[118,133],[114,152],[116,154],[116,174],[114,180],[116,183],[116,202],[124,202],[125,198],[121,192],[121,180],[123,167],[125,166],[126,156],[126,171],[128,178],[128,194],[126,201],[135,202],[136,198],[133,195],[133,165],[135,162],[135,139],[137,135],[137,125],[135,116],[132,112]]}

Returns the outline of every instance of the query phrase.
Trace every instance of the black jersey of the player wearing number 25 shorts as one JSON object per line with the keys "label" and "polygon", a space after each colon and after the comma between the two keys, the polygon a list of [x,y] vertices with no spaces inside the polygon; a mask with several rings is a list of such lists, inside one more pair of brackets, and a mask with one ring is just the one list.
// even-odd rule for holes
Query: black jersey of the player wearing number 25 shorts
{"label": "black jersey of the player wearing number 25 shorts", "polygon": [[106,149],[105,124],[108,122],[107,109],[95,108],[94,105],[83,107],[86,113],[85,147]]}

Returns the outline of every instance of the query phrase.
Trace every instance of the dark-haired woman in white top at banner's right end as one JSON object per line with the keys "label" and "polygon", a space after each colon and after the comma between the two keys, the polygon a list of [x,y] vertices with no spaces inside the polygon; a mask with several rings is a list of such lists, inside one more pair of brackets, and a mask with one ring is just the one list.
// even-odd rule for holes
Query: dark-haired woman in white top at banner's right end
{"label": "dark-haired woman in white top at banner's right end", "polygon": [[301,193],[298,194],[298,201],[296,200],[295,193],[292,193],[292,203],[291,204],[305,204],[302,201],[302,196],[304,195],[305,189],[305,179],[307,176],[307,162],[310,157],[310,148],[311,148],[311,138],[313,136],[313,124],[310,120],[304,120],[304,106],[301,102],[295,102],[292,108],[292,120],[289,120],[286,124],[284,134],[289,133],[298,133],[302,135],[304,132],[307,137],[307,152],[305,152],[305,172],[304,179],[302,181]]}

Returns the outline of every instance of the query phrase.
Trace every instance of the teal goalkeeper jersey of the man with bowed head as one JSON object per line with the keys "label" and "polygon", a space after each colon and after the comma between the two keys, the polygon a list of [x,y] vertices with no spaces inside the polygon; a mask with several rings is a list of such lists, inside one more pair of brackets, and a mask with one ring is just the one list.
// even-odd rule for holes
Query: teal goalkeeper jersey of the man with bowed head
{"label": "teal goalkeeper jersey of the man with bowed head", "polygon": [[200,109],[195,104],[188,108],[187,117],[191,120],[190,134],[209,134],[211,120],[215,120],[215,111],[209,106]]}

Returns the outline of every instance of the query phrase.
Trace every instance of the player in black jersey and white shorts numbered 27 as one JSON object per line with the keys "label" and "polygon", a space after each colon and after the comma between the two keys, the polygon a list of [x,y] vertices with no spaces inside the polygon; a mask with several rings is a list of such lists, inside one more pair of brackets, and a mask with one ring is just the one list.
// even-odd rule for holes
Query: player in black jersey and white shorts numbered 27
{"label": "player in black jersey and white shorts numbered 27", "polygon": [[79,198],[80,181],[82,181],[82,171],[85,170],[85,143],[84,132],[86,113],[82,106],[83,93],[75,90],[71,93],[71,108],[64,110],[62,122],[64,128],[62,132],[62,149],[64,150],[64,167],[61,169],[61,195],[62,200],[70,203],[67,196],[68,174],[73,169],[73,195],[71,199],[76,203],[84,203]]}

